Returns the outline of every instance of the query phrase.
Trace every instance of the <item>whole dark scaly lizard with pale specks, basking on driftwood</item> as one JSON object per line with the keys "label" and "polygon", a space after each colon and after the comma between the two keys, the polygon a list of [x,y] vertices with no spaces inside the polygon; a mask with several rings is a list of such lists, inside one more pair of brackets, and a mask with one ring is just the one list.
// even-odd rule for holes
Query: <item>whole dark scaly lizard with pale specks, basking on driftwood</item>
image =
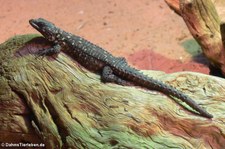
{"label": "whole dark scaly lizard with pale specks, basking on driftwood", "polygon": [[135,68],[130,67],[124,58],[114,57],[101,47],[92,44],[79,36],[65,32],[45,19],[31,19],[29,22],[32,27],[54,44],[53,47],[39,52],[39,56],[59,53],[63,47],[62,50],[64,50],[65,53],[68,53],[81,65],[94,72],[102,73],[101,78],[103,82],[114,82],[123,85],[129,81],[135,85],[157,90],[166,95],[181,99],[196,110],[199,115],[213,118],[211,114],[201,108],[190,97],[174,87],[148,77]]}

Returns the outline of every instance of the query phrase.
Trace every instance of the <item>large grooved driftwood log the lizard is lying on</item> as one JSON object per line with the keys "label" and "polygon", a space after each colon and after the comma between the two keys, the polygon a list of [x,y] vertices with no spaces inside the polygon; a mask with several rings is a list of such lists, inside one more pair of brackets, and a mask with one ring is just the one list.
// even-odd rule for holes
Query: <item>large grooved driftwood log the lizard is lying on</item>
{"label": "large grooved driftwood log the lizard is lying on", "polygon": [[0,45],[3,147],[30,142],[76,149],[225,148],[224,79],[145,71],[193,97],[214,115],[210,120],[157,91],[104,84],[63,53],[36,59],[33,53],[46,45],[34,35]]}

